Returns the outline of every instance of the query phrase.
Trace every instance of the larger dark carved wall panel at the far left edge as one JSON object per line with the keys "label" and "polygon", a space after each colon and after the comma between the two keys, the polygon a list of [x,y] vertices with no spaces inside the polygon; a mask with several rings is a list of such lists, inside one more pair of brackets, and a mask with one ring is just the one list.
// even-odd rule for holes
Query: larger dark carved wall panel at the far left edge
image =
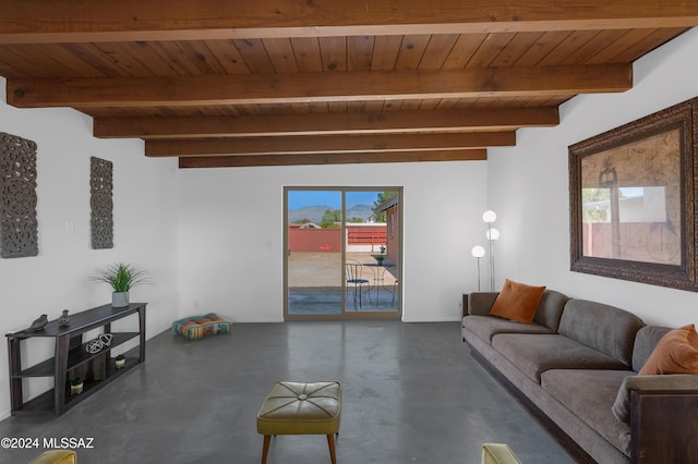
{"label": "larger dark carved wall panel at the far left edge", "polygon": [[36,256],[36,143],[0,132],[0,256]]}

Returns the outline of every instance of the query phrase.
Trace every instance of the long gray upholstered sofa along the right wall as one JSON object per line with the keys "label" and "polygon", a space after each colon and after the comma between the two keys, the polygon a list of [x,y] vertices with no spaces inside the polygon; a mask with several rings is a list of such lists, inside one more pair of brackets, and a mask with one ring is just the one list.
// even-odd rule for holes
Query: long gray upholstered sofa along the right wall
{"label": "long gray upholstered sofa along the right wall", "polygon": [[637,376],[669,328],[551,290],[520,323],[496,296],[464,295],[462,340],[577,461],[698,462],[698,375]]}

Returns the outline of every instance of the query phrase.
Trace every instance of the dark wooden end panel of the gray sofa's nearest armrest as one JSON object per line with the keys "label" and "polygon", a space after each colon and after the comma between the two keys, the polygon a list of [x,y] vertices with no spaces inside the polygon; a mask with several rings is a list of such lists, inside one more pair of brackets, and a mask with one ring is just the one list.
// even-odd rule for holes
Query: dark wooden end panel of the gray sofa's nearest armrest
{"label": "dark wooden end panel of the gray sofa's nearest armrest", "polygon": [[[630,391],[630,463],[691,462],[698,456],[698,390],[682,390],[684,381],[666,382],[675,387],[670,390]],[[653,388],[661,382],[648,383]]]}

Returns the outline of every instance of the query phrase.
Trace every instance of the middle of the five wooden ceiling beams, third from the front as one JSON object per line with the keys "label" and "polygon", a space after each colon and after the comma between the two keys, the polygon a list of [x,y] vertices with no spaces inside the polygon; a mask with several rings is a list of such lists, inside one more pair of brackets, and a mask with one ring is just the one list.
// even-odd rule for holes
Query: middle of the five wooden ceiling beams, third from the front
{"label": "middle of the five wooden ceiling beams, third from the front", "polygon": [[512,131],[559,124],[557,107],[265,114],[192,118],[95,118],[95,137],[204,138],[411,132]]}

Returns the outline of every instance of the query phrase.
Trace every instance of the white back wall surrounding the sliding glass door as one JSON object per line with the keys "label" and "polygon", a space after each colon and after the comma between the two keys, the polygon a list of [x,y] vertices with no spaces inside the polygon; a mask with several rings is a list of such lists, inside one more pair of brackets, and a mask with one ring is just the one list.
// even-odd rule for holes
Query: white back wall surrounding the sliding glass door
{"label": "white back wall surrounding the sliding glass door", "polygon": [[485,176],[482,161],[182,170],[181,310],[282,320],[284,186],[390,185],[405,187],[402,319],[457,320],[477,288]]}

